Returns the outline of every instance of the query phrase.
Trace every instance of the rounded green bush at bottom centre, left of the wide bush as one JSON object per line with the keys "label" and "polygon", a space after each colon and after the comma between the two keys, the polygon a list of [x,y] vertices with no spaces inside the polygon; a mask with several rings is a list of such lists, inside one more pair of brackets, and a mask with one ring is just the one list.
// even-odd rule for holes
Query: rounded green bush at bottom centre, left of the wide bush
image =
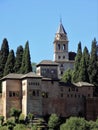
{"label": "rounded green bush at bottom centre, left of the wide bush", "polygon": [[49,121],[48,121],[48,126],[49,126],[49,130],[54,130],[59,123],[59,117],[56,114],[52,114],[49,117]]}

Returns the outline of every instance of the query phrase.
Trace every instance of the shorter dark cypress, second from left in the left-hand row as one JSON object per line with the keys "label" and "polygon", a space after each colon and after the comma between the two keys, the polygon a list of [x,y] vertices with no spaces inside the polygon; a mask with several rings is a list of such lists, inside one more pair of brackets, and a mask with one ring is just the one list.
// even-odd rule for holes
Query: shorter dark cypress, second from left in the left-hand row
{"label": "shorter dark cypress, second from left in the left-hand row", "polygon": [[15,56],[14,56],[14,51],[11,50],[9,52],[6,64],[5,64],[5,68],[4,68],[4,76],[9,74],[9,73],[13,73],[14,72],[14,63],[15,63]]}

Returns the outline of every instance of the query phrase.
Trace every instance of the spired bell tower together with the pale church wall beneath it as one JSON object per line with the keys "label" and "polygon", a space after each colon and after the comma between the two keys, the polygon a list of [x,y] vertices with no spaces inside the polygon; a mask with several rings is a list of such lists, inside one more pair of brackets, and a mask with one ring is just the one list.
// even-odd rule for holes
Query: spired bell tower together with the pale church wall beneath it
{"label": "spired bell tower together with the pale church wall beneath it", "polygon": [[68,52],[68,38],[67,33],[63,27],[62,22],[60,21],[60,25],[56,32],[54,38],[54,62],[59,64],[58,76],[62,77],[64,71],[68,68],[73,68],[74,62],[69,60],[69,52]]}

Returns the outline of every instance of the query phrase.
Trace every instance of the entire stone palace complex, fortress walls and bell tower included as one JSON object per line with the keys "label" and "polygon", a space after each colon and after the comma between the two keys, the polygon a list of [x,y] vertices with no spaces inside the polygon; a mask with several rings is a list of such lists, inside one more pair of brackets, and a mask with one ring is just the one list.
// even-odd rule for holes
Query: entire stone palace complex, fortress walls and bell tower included
{"label": "entire stone palace complex, fortress walls and bell tower included", "polygon": [[98,99],[94,86],[86,82],[64,83],[64,71],[73,68],[75,53],[68,52],[67,33],[60,23],[54,39],[54,61],[43,60],[36,73],[11,73],[1,79],[0,115],[8,118],[10,109],[21,109],[27,116],[56,113],[62,117],[83,116],[94,120],[98,116]]}

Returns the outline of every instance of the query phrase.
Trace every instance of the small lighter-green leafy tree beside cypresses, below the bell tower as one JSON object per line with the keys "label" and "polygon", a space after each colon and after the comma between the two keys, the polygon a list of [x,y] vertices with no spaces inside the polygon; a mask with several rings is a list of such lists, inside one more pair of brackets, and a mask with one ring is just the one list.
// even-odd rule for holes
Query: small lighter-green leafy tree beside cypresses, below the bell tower
{"label": "small lighter-green leafy tree beside cypresses, below the bell tower", "polygon": [[61,81],[71,83],[71,81],[72,81],[72,70],[71,69],[68,69],[66,72],[64,72]]}

